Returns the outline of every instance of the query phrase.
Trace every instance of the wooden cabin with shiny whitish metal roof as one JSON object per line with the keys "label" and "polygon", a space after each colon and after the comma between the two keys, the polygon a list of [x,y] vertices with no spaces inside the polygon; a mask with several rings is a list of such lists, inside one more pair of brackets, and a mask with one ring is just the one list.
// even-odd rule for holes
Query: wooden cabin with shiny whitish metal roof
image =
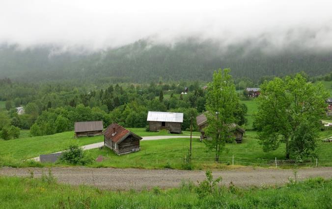
{"label": "wooden cabin with shiny whitish metal roof", "polygon": [[150,131],[166,129],[170,133],[181,133],[183,113],[151,112],[147,114]]}

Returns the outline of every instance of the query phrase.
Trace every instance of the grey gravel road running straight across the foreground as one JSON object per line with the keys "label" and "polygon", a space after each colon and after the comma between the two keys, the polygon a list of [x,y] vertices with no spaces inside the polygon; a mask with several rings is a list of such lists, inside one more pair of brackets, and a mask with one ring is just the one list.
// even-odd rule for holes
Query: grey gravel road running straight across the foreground
{"label": "grey gravel road running straight across the foreground", "polygon": [[[0,168],[0,175],[29,176],[33,170],[34,177],[40,177],[40,168]],[[131,188],[142,189],[160,186],[162,188],[176,187],[181,179],[191,179],[195,183],[205,178],[204,171],[179,171],[179,170],[140,170],[140,169],[114,169],[114,168],[52,168],[52,173],[59,182],[73,185],[87,184],[99,188],[127,190]],[[288,182],[289,177],[294,177],[293,170],[283,169],[253,169],[250,167],[234,170],[213,171],[214,177],[222,177],[226,185],[232,181],[238,186],[259,186],[262,184],[274,185]],[[309,177],[332,178],[332,167],[308,168],[298,170],[298,179]]]}

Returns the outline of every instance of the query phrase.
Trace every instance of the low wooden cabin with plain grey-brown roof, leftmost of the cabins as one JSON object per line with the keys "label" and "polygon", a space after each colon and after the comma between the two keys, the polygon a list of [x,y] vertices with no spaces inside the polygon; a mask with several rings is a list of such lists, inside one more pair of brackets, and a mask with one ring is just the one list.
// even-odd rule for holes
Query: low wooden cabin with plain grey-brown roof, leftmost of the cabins
{"label": "low wooden cabin with plain grey-brown roof, leftmost of the cabins", "polygon": [[84,121],[75,122],[75,136],[97,136],[103,134],[103,121]]}

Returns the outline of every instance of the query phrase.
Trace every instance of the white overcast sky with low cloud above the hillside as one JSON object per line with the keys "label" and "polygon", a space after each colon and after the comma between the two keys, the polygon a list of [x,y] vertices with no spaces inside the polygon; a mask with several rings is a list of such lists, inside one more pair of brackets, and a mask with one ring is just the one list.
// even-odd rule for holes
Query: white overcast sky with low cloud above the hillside
{"label": "white overcast sky with low cloud above the hillside", "polygon": [[332,48],[330,0],[0,0],[0,43],[98,50],[143,38]]}

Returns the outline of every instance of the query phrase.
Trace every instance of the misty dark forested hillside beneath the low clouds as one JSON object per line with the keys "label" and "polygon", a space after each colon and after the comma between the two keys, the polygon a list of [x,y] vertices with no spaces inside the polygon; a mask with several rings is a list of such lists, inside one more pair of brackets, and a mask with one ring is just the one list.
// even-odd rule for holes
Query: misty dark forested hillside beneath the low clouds
{"label": "misty dark forested hillside beneath the low clouds", "polygon": [[221,47],[213,41],[187,40],[170,46],[141,40],[93,53],[83,49],[60,51],[61,48],[54,46],[19,50],[15,46],[2,45],[0,78],[140,83],[181,79],[209,81],[215,69],[226,67],[232,69],[234,78],[252,80],[300,71],[310,76],[332,71],[332,51],[298,50],[296,46],[274,51],[251,42]]}

